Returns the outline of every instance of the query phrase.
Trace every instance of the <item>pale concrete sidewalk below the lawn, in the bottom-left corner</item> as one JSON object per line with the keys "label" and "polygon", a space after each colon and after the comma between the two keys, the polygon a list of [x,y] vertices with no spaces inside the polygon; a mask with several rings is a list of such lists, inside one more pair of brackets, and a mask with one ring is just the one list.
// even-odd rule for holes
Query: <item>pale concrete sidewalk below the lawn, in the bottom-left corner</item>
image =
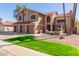
{"label": "pale concrete sidewalk below the lawn, in the bottom-left corner", "polygon": [[0,40],[0,52],[0,55],[3,56],[48,56],[47,54],[17,46],[2,40]]}

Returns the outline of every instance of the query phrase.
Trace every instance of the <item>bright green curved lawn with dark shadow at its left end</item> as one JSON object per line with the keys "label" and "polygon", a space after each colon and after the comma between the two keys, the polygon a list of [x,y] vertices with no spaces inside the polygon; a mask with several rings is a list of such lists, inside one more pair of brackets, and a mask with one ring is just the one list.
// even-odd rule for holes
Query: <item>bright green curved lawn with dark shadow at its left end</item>
{"label": "bright green curved lawn with dark shadow at its left end", "polygon": [[35,40],[31,35],[21,36],[16,38],[7,39],[5,41],[20,45],[23,47],[31,48],[42,53],[46,53],[54,56],[79,56],[79,50],[72,46],[57,43],[48,42],[45,40]]}

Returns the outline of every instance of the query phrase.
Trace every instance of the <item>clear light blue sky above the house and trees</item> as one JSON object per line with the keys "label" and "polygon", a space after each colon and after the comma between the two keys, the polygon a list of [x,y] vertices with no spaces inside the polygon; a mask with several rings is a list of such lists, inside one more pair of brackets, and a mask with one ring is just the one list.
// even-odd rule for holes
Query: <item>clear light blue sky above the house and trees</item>
{"label": "clear light blue sky above the house and trees", "polygon": [[[3,21],[16,21],[14,18],[14,10],[16,8],[16,3],[0,3],[0,17]],[[42,13],[48,12],[58,12],[59,14],[63,13],[62,3],[26,3],[23,4],[26,7],[40,11]],[[78,5],[79,6],[79,5]],[[72,3],[65,4],[65,11],[69,12],[73,9]],[[77,7],[76,19],[79,19],[79,7]]]}

